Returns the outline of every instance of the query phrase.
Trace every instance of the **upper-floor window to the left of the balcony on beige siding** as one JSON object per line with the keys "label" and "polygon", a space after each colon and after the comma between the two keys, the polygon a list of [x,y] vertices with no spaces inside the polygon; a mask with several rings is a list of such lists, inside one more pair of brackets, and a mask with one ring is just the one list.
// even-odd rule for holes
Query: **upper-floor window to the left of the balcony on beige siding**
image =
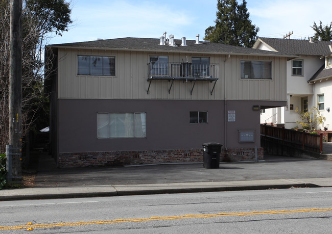
{"label": "upper-floor window to the left of the balcony on beige siding", "polygon": [[78,56],[79,75],[115,75],[115,57]]}

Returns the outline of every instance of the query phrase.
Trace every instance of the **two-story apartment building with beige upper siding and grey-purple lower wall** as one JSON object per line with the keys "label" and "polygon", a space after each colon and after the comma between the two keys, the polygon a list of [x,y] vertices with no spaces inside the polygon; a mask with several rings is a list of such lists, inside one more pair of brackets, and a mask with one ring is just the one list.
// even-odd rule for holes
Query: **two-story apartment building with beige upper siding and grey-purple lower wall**
{"label": "two-story apartment building with beige upper siding and grey-purple lower wall", "polygon": [[290,56],[275,51],[165,33],[45,51],[58,167],[202,162],[206,142],[262,158],[259,109],[287,105]]}

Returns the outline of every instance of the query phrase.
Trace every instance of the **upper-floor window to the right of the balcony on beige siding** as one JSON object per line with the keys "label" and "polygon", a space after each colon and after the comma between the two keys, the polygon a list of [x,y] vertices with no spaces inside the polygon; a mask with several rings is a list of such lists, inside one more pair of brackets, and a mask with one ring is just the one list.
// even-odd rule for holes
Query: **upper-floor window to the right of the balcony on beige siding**
{"label": "upper-floor window to the right of the balcony on beige siding", "polygon": [[272,79],[272,62],[241,61],[241,79]]}

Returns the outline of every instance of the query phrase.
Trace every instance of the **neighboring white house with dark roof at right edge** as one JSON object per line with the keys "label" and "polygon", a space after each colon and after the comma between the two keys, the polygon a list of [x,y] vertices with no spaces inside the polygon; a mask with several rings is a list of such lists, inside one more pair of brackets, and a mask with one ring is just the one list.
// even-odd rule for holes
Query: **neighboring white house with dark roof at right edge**
{"label": "neighboring white house with dark roof at right edge", "polygon": [[[287,106],[265,109],[261,123],[284,124],[286,128],[298,126],[299,114],[317,106],[326,118],[320,129],[332,128],[332,42],[258,38],[253,48],[278,51],[298,56],[287,62]],[[277,68],[275,68],[277,69]]]}

